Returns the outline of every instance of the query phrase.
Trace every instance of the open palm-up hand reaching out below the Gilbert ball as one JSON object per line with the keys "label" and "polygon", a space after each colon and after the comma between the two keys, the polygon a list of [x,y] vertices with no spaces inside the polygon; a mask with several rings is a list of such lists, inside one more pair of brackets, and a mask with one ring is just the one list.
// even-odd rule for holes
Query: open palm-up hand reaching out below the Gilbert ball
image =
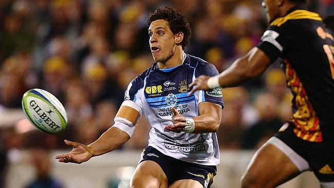
{"label": "open palm-up hand reaching out below the Gilbert ball", "polygon": [[88,161],[92,157],[92,153],[90,152],[88,146],[68,140],[64,140],[64,142],[66,145],[72,146],[73,149],[67,154],[55,156],[55,159],[58,159],[59,162],[80,164]]}

